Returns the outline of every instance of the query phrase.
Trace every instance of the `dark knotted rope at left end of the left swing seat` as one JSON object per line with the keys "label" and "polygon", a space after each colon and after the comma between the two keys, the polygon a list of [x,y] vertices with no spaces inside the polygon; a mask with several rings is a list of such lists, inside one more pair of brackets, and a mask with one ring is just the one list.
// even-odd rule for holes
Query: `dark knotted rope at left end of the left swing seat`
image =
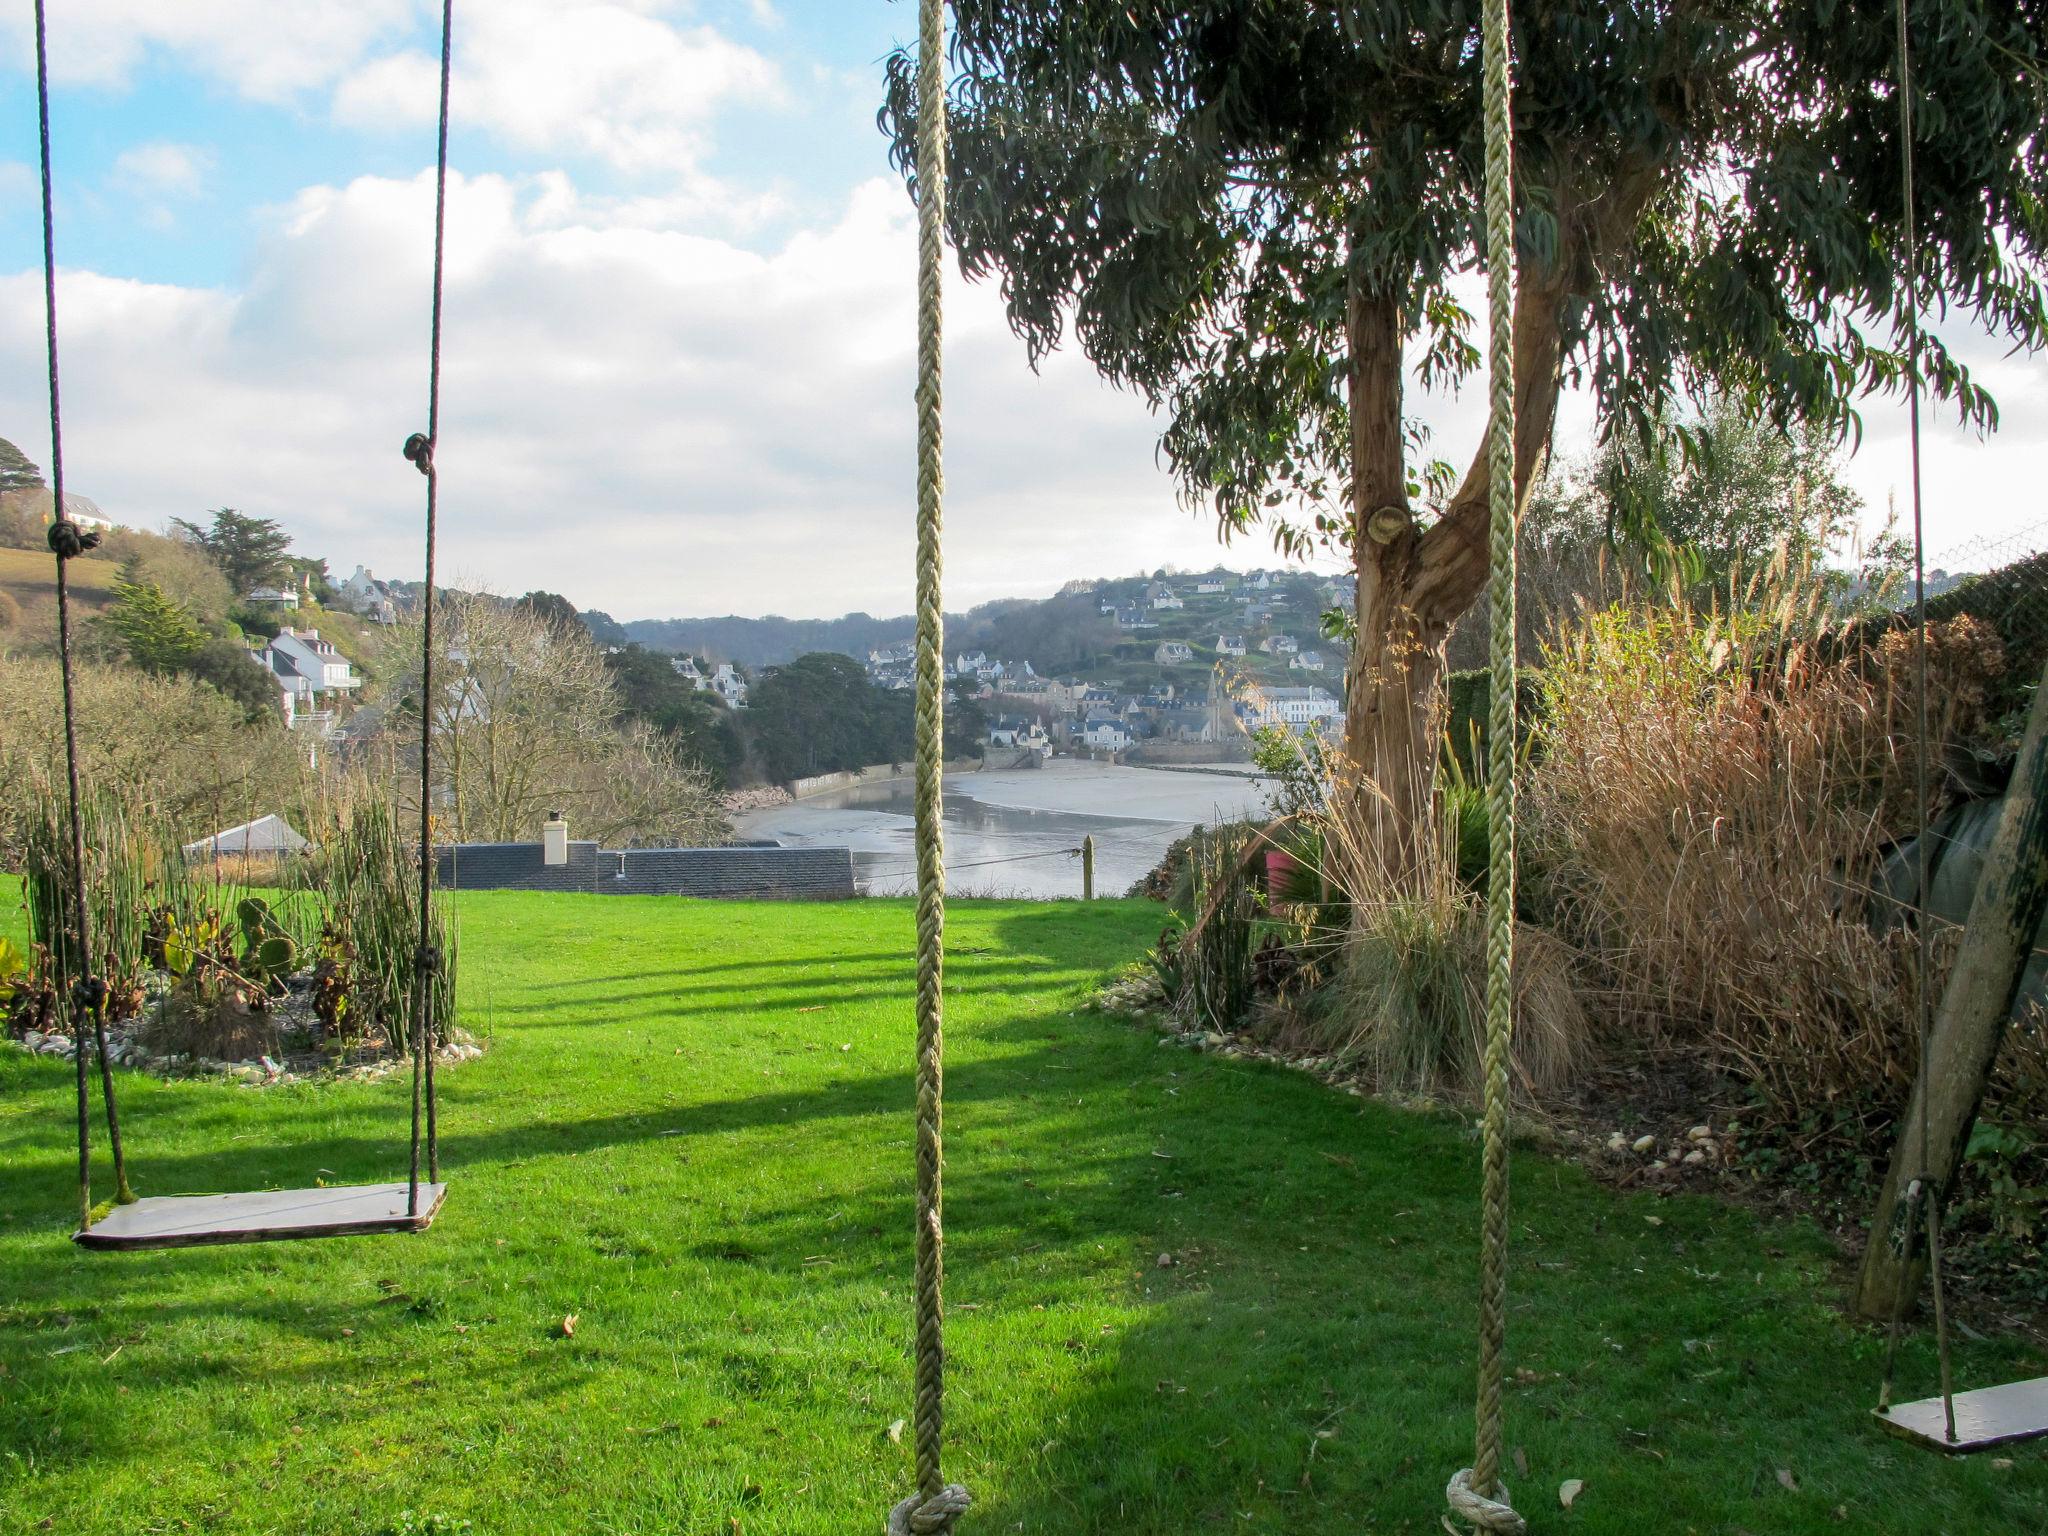
{"label": "dark knotted rope at left end of the left swing seat", "polygon": [[127,1182],[127,1159],[121,1153],[121,1112],[115,1106],[115,1075],[106,1061],[106,983],[92,967],[92,926],[86,913],[86,823],[80,813],[78,788],[78,702],[72,680],[72,592],[66,563],[98,547],[100,535],[72,522],[63,500],[63,408],[57,389],[57,221],[49,190],[49,37],[43,20],[43,0],[35,0],[35,113],[43,152],[43,338],[49,348],[49,483],[51,522],[49,553],[57,557],[57,668],[63,676],[63,774],[72,831],[72,952],[80,973],[66,987],[70,956],[59,940],[59,991],[72,1010],[72,1061],[78,1065],[78,1229],[92,1225],[92,1104],[86,1079],[86,1022],[92,1024],[100,1061],[100,1100],[106,1104],[106,1143],[115,1155],[115,1198],[127,1204],[135,1198]]}

